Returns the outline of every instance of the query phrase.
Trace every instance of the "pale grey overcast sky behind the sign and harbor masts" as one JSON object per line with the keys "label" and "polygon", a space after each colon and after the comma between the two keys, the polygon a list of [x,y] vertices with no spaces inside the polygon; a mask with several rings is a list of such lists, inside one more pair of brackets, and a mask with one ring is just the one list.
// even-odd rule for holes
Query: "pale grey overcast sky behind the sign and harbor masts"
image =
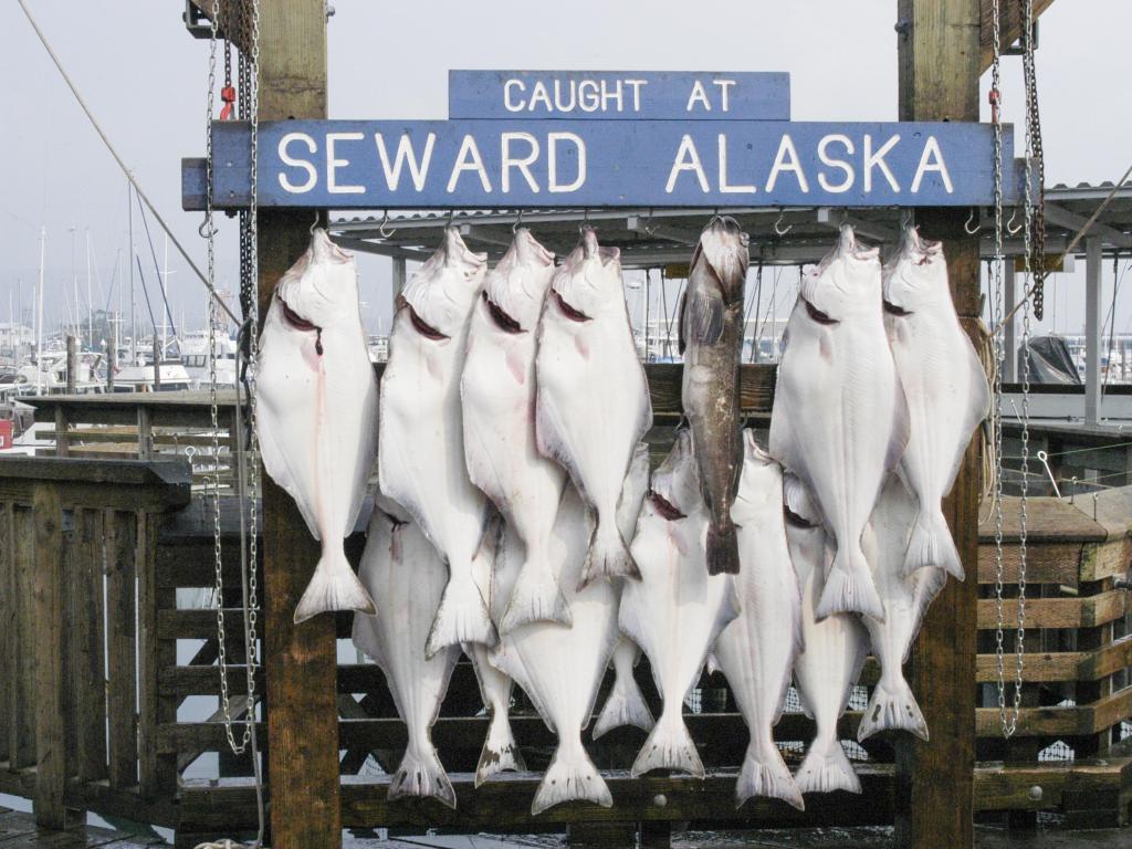
{"label": "pale grey overcast sky behind the sign and harbor masts", "polygon": [[[31,5],[109,136],[203,265],[200,216],[180,211],[179,180],[181,157],[204,152],[207,42],[185,31],[183,3]],[[333,6],[332,118],[444,118],[449,68],[784,70],[791,75],[797,120],[897,118],[895,0],[573,0],[560,6],[335,0]],[[82,310],[87,233],[95,268],[92,300],[96,308],[108,302],[115,259],[120,272],[126,263],[126,180],[15,2],[0,7],[0,32],[6,34],[0,74],[8,80],[0,143],[0,247],[6,257],[0,320],[8,320],[9,303],[20,299],[25,312],[31,309],[43,225],[50,327],[63,318],[70,299],[71,228]],[[1123,92],[1132,78],[1130,32],[1127,0],[1060,0],[1043,16],[1038,79],[1048,183],[1115,180],[1132,164],[1132,111],[1114,108],[1118,103],[1108,96],[1113,86]],[[1011,58],[1004,65],[1005,117],[1021,123],[1020,61]],[[1126,95],[1120,96],[1126,104]],[[1099,108],[1106,103],[1108,108]],[[161,261],[163,245],[153,222],[151,230]],[[153,260],[136,209],[134,238],[155,292]],[[234,230],[228,225],[220,248],[222,285],[232,283],[235,273],[233,242]],[[187,324],[199,327],[203,290],[172,252],[170,269],[174,319],[183,311]],[[367,323],[376,327],[384,311],[387,326],[387,264],[366,257],[361,271]],[[783,276],[792,278],[791,273]],[[1057,306],[1047,310],[1047,325],[1056,316],[1061,331],[1081,326],[1082,283],[1078,274],[1055,284]],[[1106,267],[1106,305],[1112,286]],[[1127,290],[1132,285],[1122,288],[1116,308],[1117,332],[1132,331]],[[126,292],[128,310],[128,288]],[[140,305],[140,293],[138,298]],[[117,294],[110,302],[117,308]],[[783,298],[781,310],[786,307]],[[144,306],[139,310],[144,314]]]}

